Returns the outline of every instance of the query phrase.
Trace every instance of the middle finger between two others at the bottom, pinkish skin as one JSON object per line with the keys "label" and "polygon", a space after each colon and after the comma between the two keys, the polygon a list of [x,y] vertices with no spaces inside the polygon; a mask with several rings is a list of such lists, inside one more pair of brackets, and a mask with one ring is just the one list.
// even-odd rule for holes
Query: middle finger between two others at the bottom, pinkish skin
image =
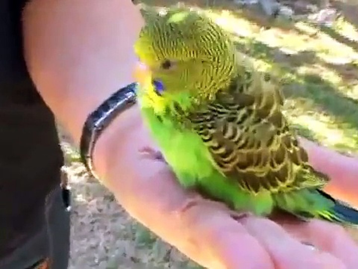
{"label": "middle finger between two others at the bottom, pinkish skin", "polygon": [[244,222],[247,231],[269,251],[276,268],[345,268],[338,258],[301,244],[273,221],[248,217]]}

